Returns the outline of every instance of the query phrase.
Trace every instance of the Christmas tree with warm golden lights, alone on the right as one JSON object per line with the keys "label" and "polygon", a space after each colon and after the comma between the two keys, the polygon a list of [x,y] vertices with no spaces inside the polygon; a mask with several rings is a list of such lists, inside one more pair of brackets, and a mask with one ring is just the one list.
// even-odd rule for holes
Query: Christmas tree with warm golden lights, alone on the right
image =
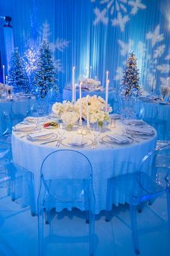
{"label": "Christmas tree with warm golden lights, alone on the right", "polygon": [[130,54],[122,78],[122,94],[125,96],[140,95],[139,72],[135,54]]}

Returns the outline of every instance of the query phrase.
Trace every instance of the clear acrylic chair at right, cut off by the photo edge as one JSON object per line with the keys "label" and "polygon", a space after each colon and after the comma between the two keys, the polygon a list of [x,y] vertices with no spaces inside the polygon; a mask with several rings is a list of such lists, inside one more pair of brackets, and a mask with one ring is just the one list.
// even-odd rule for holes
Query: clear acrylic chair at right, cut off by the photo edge
{"label": "clear acrylic chair at right, cut off by the photo edge", "polygon": [[146,202],[151,205],[157,197],[166,194],[170,228],[170,144],[148,153],[135,173],[108,180],[106,221],[110,219],[109,210],[117,192],[130,205],[133,246],[135,254],[139,255],[137,210],[141,213]]}

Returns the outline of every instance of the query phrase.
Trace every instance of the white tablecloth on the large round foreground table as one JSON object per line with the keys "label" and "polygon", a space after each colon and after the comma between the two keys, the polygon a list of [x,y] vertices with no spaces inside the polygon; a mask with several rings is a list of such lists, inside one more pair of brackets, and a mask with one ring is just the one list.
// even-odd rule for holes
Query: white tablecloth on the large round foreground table
{"label": "white tablecloth on the large round foreground table", "polygon": [[[115,128],[105,129],[105,132],[102,132],[100,136],[103,137],[110,132],[121,134],[123,125],[124,124],[122,124],[120,120],[117,120]],[[58,129],[50,129],[50,132],[51,131],[57,133]],[[73,137],[75,135],[77,135],[76,130],[65,132],[66,137]],[[85,137],[92,139],[90,132],[87,133]],[[147,139],[146,137],[140,137],[140,139],[134,139],[132,143],[126,145],[98,143],[97,148],[94,150],[91,149],[91,145],[84,146],[84,148],[73,148],[61,144],[59,148],[56,148],[56,141],[45,145],[41,145],[41,143],[42,142],[40,141],[30,142],[27,140],[26,136],[22,137],[22,135],[17,132],[12,133],[13,161],[19,166],[27,168],[27,170],[34,174],[36,200],[40,189],[40,166],[43,159],[54,150],[78,150],[79,152],[84,153],[91,162],[93,168],[94,195],[96,198],[96,213],[99,213],[100,210],[106,209],[107,179],[112,176],[136,171],[142,158],[156,147],[156,131],[155,135],[148,136]],[[63,155],[61,161],[64,161],[64,158],[66,157],[66,155]],[[126,202],[126,199],[122,198],[120,195],[116,195],[114,200],[113,203],[115,205]]]}

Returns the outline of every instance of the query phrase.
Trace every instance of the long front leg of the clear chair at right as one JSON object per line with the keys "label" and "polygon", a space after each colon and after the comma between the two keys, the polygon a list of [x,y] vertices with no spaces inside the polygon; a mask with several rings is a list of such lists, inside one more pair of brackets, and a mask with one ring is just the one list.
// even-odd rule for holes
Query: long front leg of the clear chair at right
{"label": "long front leg of the clear chair at right", "polygon": [[137,218],[136,218],[136,206],[130,205],[130,222],[133,236],[133,247],[135,254],[139,255],[139,244],[138,244],[138,231],[137,231]]}

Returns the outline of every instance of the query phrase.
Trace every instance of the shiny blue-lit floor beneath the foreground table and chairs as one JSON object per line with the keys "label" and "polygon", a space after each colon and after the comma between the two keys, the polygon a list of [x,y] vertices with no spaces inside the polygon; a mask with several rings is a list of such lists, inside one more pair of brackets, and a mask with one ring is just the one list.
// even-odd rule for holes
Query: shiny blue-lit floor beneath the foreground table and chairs
{"label": "shiny blue-lit floor beneath the foreground table and chairs", "polygon": [[[128,205],[113,208],[113,213],[110,222],[104,221],[104,212],[97,216],[95,256],[133,256]],[[151,208],[146,206],[143,213],[138,213],[138,228],[140,255],[170,255],[170,231],[164,197],[154,202]],[[50,236],[49,225],[45,225],[45,229],[45,256],[88,255],[88,224],[85,223],[84,213],[73,210],[72,215],[65,210],[53,221]],[[10,197],[0,200],[0,255],[37,255],[37,217],[30,216],[29,208],[20,208]]]}

